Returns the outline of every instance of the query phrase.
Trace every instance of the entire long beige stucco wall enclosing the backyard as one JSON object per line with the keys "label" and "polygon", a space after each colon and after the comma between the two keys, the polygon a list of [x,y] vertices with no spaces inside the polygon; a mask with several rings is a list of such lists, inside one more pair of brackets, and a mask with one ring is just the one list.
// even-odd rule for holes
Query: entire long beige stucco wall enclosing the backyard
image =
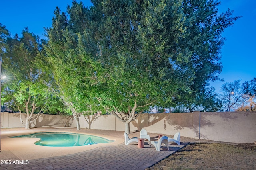
{"label": "entire long beige stucco wall enclosing the backyard", "polygon": [[[26,114],[22,114],[25,121]],[[60,115],[43,115],[31,127],[62,127]],[[76,121],[72,119],[72,127]],[[1,127],[24,127],[18,113],[1,113]],[[124,123],[113,115],[90,115],[80,118],[81,128],[124,131]],[[130,123],[130,131],[146,129],[150,133],[210,139],[214,141],[253,143],[256,141],[256,112],[193,112],[141,114]]]}

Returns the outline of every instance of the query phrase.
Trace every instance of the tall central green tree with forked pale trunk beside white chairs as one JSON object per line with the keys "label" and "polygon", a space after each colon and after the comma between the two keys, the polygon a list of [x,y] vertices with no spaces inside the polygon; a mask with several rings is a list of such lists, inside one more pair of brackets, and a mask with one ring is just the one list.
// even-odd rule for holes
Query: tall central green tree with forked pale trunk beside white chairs
{"label": "tall central green tree with forked pale trunk beside white chairs", "polygon": [[178,90],[189,90],[182,62],[186,51],[171,50],[184,37],[186,20],[180,4],[170,1],[92,3],[95,54],[104,70],[95,96],[130,133],[129,123],[144,110],[172,102]]}

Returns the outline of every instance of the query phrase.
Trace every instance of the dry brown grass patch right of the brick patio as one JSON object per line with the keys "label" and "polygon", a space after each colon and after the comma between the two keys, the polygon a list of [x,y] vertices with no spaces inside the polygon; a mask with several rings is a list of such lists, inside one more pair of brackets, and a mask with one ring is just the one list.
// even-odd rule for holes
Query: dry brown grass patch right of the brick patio
{"label": "dry brown grass patch right of the brick patio", "polygon": [[256,146],[191,143],[146,170],[255,170]]}

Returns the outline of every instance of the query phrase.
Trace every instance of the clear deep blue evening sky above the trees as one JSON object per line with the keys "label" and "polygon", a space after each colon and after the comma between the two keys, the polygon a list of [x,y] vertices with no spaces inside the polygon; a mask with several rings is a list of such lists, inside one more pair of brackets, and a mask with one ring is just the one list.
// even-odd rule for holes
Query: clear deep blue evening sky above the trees
{"label": "clear deep blue evening sky above the trees", "polygon": [[[80,2],[80,0],[77,0]],[[84,6],[90,6],[90,0],[82,0]],[[222,73],[224,82],[213,82],[216,92],[226,82],[241,79],[241,83],[256,77],[256,0],[221,0],[219,12],[230,8],[233,16],[243,16],[232,27],[228,27],[223,37]],[[66,12],[67,4],[72,0],[0,0],[0,23],[5,25],[12,35],[20,35],[24,27],[44,38],[44,27],[50,27],[56,6]]]}

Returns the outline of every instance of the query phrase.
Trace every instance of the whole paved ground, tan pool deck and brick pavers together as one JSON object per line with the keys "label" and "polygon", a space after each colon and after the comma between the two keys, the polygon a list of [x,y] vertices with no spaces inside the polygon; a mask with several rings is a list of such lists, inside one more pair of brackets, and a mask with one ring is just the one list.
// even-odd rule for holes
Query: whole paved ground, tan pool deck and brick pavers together
{"label": "whole paved ground, tan pool deck and brick pavers together", "polygon": [[[72,132],[96,135],[110,140],[115,140],[109,144],[97,144],[76,147],[46,147],[35,145],[38,141],[35,138],[9,138],[13,135],[24,135],[35,132]],[[95,129],[82,129],[77,131],[72,129],[57,128],[10,128],[1,129],[1,152],[0,160],[10,160],[10,164],[0,164],[1,170],[9,169],[91,169],[91,170],[118,170],[136,169],[142,170],[152,166],[156,162],[166,158],[188,143],[181,145],[169,145],[170,151],[166,147],[156,151],[154,147],[149,147],[145,141],[145,148],[137,148],[137,143],[124,145],[123,131],[104,131]],[[137,136],[139,132],[129,136]],[[154,137],[152,137],[154,136]],[[157,134],[150,134],[152,140],[157,140]],[[17,160],[20,160],[17,162]]]}

